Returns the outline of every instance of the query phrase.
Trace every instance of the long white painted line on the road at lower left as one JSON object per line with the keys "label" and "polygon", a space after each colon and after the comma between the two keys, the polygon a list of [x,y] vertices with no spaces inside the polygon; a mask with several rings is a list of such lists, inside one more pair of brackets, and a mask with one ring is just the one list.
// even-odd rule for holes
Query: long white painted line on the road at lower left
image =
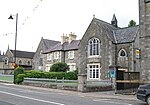
{"label": "long white painted line on the road at lower left", "polygon": [[9,94],[9,95],[16,96],[16,97],[26,98],[26,99],[40,101],[40,102],[54,104],[54,105],[65,105],[65,104],[62,104],[62,103],[57,103],[57,102],[52,102],[52,101],[46,101],[46,100],[36,99],[36,98],[32,98],[32,97],[21,96],[21,95],[17,95],[17,94],[13,94],[13,93],[8,93],[8,92],[3,92],[3,91],[0,91],[0,93]]}

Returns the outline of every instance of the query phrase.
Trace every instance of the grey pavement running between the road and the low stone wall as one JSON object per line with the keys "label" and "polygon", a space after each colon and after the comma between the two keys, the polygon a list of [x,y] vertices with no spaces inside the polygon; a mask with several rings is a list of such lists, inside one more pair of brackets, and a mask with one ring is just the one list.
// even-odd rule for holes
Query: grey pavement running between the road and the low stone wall
{"label": "grey pavement running between the road and the low stone wall", "polygon": [[[8,83],[0,83],[3,85],[8,85]],[[77,92],[77,91],[70,91],[70,90],[60,90],[60,89],[51,89],[51,88],[42,88],[42,87],[34,87],[34,86],[27,86],[27,85],[16,85],[16,84],[9,84],[10,86],[14,87],[22,87],[28,89],[37,89],[43,91],[51,91],[51,92],[59,92],[66,95],[78,95],[81,97],[91,97],[91,98],[100,98],[100,99],[118,99],[118,100],[130,100],[135,101],[137,100],[136,95],[123,95],[123,94],[115,94],[115,91],[102,91],[102,92]]]}

